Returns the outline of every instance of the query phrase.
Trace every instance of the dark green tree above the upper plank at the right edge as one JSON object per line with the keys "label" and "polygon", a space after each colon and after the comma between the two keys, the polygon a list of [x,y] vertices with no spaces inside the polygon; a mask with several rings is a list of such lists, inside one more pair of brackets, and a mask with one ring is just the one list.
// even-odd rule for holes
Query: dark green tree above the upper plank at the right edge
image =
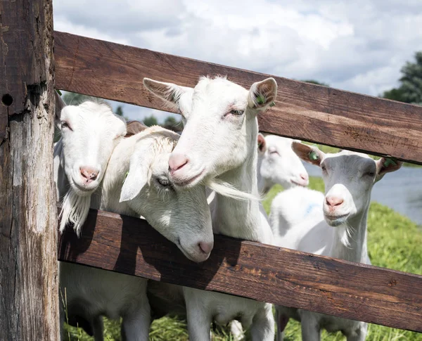
{"label": "dark green tree above the upper plank at the right edge", "polygon": [[400,86],[383,93],[383,98],[422,105],[422,51],[415,53],[415,62],[402,67]]}

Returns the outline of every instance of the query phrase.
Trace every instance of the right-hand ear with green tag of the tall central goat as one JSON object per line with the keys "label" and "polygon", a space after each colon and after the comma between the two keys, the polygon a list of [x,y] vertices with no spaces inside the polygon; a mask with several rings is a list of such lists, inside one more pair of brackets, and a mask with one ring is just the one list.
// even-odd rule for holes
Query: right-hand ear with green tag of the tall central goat
{"label": "right-hand ear with green tag of the tall central goat", "polygon": [[265,110],[273,105],[277,96],[277,82],[270,77],[250,86],[248,105],[250,108]]}

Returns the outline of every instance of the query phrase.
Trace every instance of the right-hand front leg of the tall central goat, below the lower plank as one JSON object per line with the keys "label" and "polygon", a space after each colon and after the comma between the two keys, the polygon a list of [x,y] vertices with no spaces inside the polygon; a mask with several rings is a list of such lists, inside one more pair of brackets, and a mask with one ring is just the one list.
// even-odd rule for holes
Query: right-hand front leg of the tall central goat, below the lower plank
{"label": "right-hand front leg of the tall central goat, below the lower plank", "polygon": [[274,323],[272,304],[266,303],[253,316],[252,326],[250,326],[250,337],[252,341],[274,341]]}

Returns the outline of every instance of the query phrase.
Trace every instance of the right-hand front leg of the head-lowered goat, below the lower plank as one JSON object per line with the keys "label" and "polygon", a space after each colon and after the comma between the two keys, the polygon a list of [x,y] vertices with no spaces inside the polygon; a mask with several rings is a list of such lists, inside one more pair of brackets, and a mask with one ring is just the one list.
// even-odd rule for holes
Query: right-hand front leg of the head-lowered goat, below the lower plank
{"label": "right-hand front leg of the head-lowered goat, below the lower plank", "polygon": [[148,341],[151,325],[151,312],[148,302],[141,302],[139,309],[125,314],[122,321],[123,341]]}

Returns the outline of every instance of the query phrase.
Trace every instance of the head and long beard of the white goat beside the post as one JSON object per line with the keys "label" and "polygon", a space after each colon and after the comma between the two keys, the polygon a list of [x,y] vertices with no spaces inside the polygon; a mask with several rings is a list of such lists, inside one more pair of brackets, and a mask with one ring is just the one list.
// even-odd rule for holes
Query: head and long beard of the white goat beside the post
{"label": "head and long beard of the white goat beside the post", "polygon": [[61,132],[54,146],[54,180],[58,199],[63,200],[60,232],[71,223],[79,235],[91,194],[101,184],[113,148],[126,134],[126,123],[106,103],[86,101],[56,110],[56,125]]}

